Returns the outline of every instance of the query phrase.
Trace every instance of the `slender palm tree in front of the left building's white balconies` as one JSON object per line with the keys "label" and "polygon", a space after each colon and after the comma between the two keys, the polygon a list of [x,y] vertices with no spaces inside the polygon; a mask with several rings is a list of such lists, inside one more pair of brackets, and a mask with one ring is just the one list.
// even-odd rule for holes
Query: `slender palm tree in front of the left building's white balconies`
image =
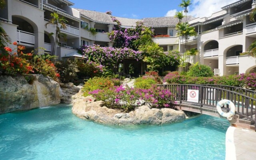
{"label": "slender palm tree in front of the left building's white balconies", "polygon": [[[54,48],[52,51],[52,55],[55,55],[55,49],[57,44],[59,43],[59,38],[64,38],[66,40],[66,34],[60,32],[60,29],[66,29],[66,24],[65,22],[68,22],[67,20],[64,19],[64,17],[59,17],[58,13],[53,12],[51,13],[52,19],[50,19],[49,22],[47,22],[44,26],[47,28],[47,25],[52,25],[56,27],[56,32],[55,32],[55,40],[54,40]],[[48,36],[52,36],[54,33],[50,33]]]}

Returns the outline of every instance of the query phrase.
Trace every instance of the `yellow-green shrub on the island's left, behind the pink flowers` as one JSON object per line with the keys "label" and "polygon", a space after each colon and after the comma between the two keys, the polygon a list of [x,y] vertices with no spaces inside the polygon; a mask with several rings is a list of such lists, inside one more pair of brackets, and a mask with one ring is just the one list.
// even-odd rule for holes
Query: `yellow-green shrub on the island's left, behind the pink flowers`
{"label": "yellow-green shrub on the island's left, behind the pink flowers", "polygon": [[[85,84],[82,91],[84,92],[83,96],[88,96],[88,92],[97,89],[108,89],[117,84],[117,80],[112,80],[112,78],[104,78],[104,77],[94,77],[90,78]],[[120,83],[119,83],[120,84]]]}

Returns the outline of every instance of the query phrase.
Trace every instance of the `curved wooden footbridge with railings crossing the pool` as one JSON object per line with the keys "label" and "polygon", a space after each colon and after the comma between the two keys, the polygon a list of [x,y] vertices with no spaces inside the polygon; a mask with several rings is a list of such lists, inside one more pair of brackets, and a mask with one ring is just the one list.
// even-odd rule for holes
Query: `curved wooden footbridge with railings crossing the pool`
{"label": "curved wooden footbridge with railings crossing the pool", "polygon": [[[256,130],[256,91],[234,86],[215,84],[159,84],[161,88],[170,90],[175,95],[175,106],[178,109],[222,117],[216,111],[217,103],[222,99],[230,100],[236,106],[236,113],[230,123],[240,128]],[[198,102],[189,102],[188,90],[198,90]],[[223,112],[229,112],[230,107],[224,105]]]}

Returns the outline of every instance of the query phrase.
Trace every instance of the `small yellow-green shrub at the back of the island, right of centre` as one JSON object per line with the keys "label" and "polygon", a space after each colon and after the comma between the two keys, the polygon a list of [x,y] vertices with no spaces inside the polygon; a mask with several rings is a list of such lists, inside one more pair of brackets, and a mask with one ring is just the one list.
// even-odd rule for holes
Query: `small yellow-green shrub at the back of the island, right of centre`
{"label": "small yellow-green shrub at the back of the island, right of centre", "polygon": [[149,89],[152,85],[156,85],[157,81],[154,76],[142,76],[137,78],[134,82],[135,88]]}

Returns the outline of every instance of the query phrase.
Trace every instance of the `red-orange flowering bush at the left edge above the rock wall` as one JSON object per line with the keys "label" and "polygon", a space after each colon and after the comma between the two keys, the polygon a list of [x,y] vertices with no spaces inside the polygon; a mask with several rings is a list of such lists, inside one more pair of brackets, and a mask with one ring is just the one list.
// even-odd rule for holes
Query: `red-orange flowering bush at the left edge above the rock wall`
{"label": "red-orange flowering bush at the left edge above the rock wall", "polygon": [[[17,43],[14,42],[13,45],[17,46]],[[32,54],[25,54],[24,50],[26,50],[26,48],[24,46],[17,46],[15,50],[6,46],[4,47],[4,52],[0,53],[0,71],[2,74],[17,75],[33,72],[33,67],[29,62],[32,58]]]}

